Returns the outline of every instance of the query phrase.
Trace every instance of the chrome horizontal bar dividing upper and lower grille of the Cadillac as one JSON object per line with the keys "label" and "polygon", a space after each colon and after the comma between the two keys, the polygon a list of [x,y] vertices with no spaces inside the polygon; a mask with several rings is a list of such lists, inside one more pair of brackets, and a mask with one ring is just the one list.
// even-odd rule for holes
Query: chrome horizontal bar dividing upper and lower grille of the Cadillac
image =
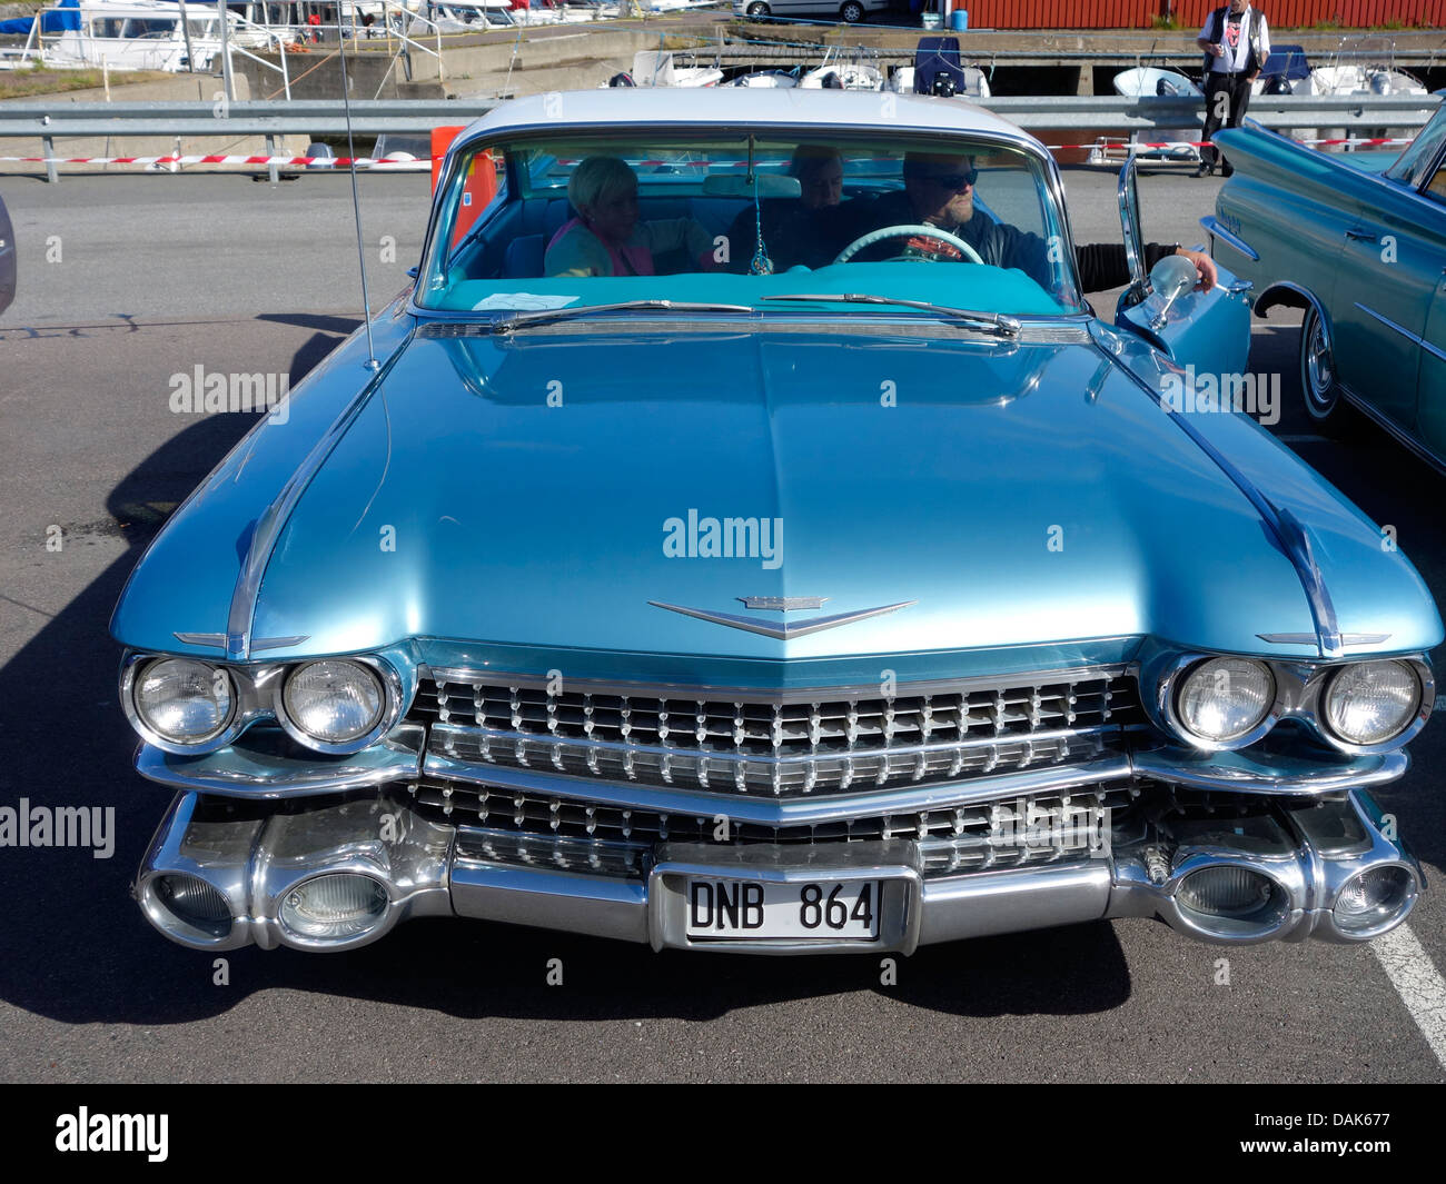
{"label": "chrome horizontal bar dividing upper and lower grille of the Cadillac", "polygon": [[784,827],[844,821],[873,814],[917,814],[924,810],[943,810],[1021,794],[1045,794],[1105,782],[1124,782],[1131,776],[1131,766],[1128,758],[1118,756],[1084,765],[1063,765],[1051,769],[977,778],[964,784],[944,782],[917,789],[879,789],[869,794],[831,794],[827,798],[803,799],[681,791],[632,782],[619,785],[532,769],[512,769],[505,765],[479,768],[432,752],[428,752],[422,759],[422,773],[571,801],[600,802],[622,808],[635,807],[691,818],[723,815],[742,823]]}

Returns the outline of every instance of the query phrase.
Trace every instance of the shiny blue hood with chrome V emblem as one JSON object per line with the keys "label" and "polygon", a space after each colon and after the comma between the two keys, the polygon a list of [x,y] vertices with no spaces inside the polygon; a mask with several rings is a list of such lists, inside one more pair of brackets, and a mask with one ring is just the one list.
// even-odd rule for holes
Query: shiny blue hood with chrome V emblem
{"label": "shiny blue hood with chrome V emblem", "polygon": [[[1322,506],[1382,562],[1364,518]],[[745,554],[711,554],[710,519]],[[778,638],[658,604],[774,627],[904,607]],[[1336,607],[1349,629],[1364,606]],[[434,327],[320,464],[253,633],[816,658],[1310,630],[1257,510],[1083,333]]]}

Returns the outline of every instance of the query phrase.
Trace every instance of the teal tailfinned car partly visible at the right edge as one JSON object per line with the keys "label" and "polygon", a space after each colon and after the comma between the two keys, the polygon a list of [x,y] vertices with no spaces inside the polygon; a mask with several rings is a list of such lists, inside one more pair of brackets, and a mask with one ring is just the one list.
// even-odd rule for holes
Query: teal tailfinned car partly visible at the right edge
{"label": "teal tailfinned car partly visible at the right edge", "polygon": [[1306,411],[1330,434],[1361,411],[1446,470],[1446,107],[1400,155],[1219,139],[1235,175],[1203,221],[1257,312],[1304,311]]}

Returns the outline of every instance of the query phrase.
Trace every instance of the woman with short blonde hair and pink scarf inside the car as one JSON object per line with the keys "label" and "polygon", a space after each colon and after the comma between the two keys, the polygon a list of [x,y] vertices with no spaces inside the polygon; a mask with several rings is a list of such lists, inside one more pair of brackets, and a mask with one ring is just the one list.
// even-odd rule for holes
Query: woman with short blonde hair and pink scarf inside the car
{"label": "woman with short blonde hair and pink scarf inside the car", "polygon": [[577,217],[548,243],[544,275],[651,276],[658,254],[680,249],[696,270],[717,269],[713,236],[693,218],[638,221],[638,176],[626,160],[589,156],[573,171],[567,197]]}

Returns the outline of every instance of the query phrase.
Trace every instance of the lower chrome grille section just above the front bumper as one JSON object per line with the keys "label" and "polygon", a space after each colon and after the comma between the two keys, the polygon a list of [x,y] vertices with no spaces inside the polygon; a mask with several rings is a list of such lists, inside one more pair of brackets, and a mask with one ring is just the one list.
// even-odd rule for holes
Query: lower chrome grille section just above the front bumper
{"label": "lower chrome grille section just above the front bumper", "polygon": [[486,837],[497,862],[612,875],[646,870],[656,843],[840,843],[912,838],[927,872],[959,872],[1079,859],[1103,853],[1111,815],[1138,791],[1086,786],[1006,801],[946,805],[840,821],[765,825],[732,821],[720,840],[714,817],[661,814],[584,798],[557,798],[471,782],[424,778],[408,786],[418,814]]}

